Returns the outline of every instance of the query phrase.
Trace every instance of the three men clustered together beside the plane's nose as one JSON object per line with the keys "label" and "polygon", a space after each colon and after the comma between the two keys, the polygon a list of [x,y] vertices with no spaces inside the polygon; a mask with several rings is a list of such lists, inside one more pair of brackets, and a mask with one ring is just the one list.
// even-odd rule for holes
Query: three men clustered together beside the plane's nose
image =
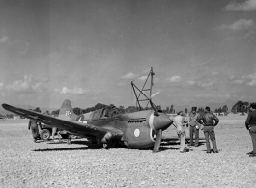
{"label": "three men clustered together beside the plane's nose", "polygon": [[206,138],[206,153],[211,153],[212,151],[209,138],[213,144],[213,153],[218,153],[214,132],[214,126],[216,126],[219,122],[218,118],[210,112],[210,107],[206,107],[205,113],[201,115],[197,113],[196,110],[196,107],[192,107],[188,121],[185,120],[183,111],[178,112],[177,116],[174,118],[170,117],[170,119],[173,121],[173,124],[177,128],[177,134],[180,139],[180,152],[185,153],[189,151],[189,149],[185,147],[185,125],[189,125],[190,143],[188,146],[199,146],[199,129],[201,128],[204,131]]}

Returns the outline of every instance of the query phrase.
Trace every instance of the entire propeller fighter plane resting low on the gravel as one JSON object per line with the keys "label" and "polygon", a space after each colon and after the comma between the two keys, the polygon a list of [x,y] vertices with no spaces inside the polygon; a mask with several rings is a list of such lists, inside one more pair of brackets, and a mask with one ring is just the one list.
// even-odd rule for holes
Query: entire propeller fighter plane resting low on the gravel
{"label": "entire propeller fighter plane resting low on the gravel", "polygon": [[119,143],[128,148],[154,146],[153,151],[157,152],[161,143],[162,131],[167,129],[172,121],[166,114],[158,113],[151,100],[150,103],[153,110],[120,114],[116,108],[102,108],[77,116],[73,113],[71,101],[65,100],[61,106],[59,117],[8,104],[2,104],[2,106],[4,109],[28,119],[66,130],[92,142],[102,143],[107,148],[112,148]]}

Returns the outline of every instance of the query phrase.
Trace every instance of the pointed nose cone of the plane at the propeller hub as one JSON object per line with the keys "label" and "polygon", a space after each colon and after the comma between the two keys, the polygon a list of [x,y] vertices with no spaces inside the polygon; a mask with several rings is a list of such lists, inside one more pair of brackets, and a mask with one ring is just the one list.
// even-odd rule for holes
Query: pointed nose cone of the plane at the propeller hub
{"label": "pointed nose cone of the plane at the propeller hub", "polygon": [[159,116],[155,116],[153,121],[153,125],[156,130],[165,130],[172,123],[173,121],[171,121],[166,114],[159,114]]}

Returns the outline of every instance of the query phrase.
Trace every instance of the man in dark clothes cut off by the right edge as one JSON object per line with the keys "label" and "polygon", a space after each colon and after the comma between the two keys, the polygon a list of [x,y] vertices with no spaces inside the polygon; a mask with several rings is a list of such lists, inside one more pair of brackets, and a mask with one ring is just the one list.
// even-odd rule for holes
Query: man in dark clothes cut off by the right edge
{"label": "man in dark clothes cut off by the right edge", "polygon": [[250,112],[245,121],[245,126],[249,130],[253,151],[249,153],[250,157],[256,157],[256,103],[250,104]]}

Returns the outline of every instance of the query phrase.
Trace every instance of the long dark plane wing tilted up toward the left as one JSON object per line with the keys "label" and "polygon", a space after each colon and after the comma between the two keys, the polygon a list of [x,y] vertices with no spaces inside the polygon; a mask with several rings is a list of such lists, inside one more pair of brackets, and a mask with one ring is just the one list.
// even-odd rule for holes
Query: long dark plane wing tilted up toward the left
{"label": "long dark plane wing tilted up toward the left", "polygon": [[123,134],[120,132],[120,130],[117,129],[106,129],[82,122],[66,121],[49,115],[37,113],[35,111],[17,108],[8,104],[2,104],[2,106],[4,109],[20,116],[26,117],[28,119],[34,119],[36,121],[40,121],[50,126],[57,127],[59,129],[66,130],[84,137],[103,137],[107,132],[111,132],[113,135],[118,136],[122,136],[121,134]]}

